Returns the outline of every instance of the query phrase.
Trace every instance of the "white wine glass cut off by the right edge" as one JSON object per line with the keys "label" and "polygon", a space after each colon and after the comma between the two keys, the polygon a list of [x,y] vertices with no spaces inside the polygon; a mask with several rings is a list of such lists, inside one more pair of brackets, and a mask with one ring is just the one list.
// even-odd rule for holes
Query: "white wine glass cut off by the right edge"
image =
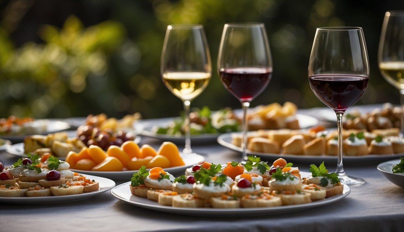
{"label": "white wine glass cut off by the right edge", "polygon": [[[404,11],[388,11],[384,15],[378,53],[381,75],[400,91],[404,109]],[[404,111],[401,116],[404,135]]]}

